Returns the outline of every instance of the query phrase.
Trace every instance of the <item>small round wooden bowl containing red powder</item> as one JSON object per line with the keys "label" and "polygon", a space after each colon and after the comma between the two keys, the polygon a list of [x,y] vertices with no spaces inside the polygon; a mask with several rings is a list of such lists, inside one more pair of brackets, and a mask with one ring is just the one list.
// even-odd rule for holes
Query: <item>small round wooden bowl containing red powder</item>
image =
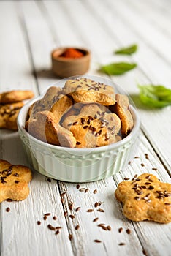
{"label": "small round wooden bowl containing red powder", "polygon": [[59,78],[83,75],[88,71],[91,54],[84,48],[74,48],[83,53],[80,58],[66,58],[61,56],[68,48],[56,48],[52,51],[52,69]]}

